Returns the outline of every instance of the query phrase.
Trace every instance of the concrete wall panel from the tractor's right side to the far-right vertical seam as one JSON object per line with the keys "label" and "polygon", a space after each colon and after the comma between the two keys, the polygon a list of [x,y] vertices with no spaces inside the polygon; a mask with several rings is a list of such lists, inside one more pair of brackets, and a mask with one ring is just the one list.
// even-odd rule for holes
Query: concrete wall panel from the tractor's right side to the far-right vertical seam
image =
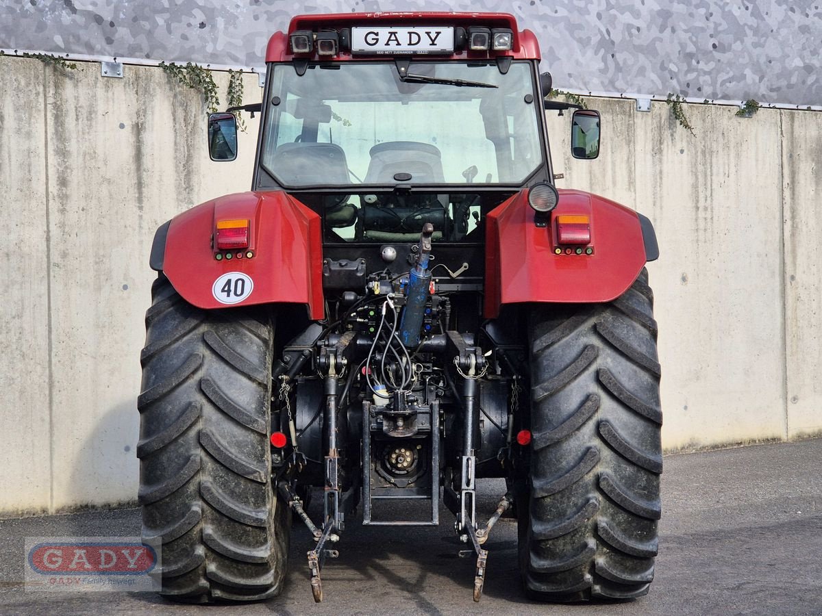
{"label": "concrete wall panel from the tractor's right side to the far-right vertical seam", "polygon": [[[654,223],[649,264],[663,365],[663,445],[685,448],[780,438],[783,306],[779,112],[688,105],[695,136],[666,103],[593,99],[603,113],[596,161],[570,157],[570,118],[554,133],[561,186],[637,209]],[[551,113],[549,112],[549,116]],[[556,126],[552,121],[552,127]]]}

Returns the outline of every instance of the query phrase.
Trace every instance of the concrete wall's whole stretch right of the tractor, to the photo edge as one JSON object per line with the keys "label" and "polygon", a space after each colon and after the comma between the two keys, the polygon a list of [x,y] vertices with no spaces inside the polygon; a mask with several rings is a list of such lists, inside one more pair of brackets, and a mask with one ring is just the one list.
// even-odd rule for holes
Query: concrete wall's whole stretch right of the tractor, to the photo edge
{"label": "concrete wall's whole stretch right of the tractor, to the photo edge", "polygon": [[[594,99],[603,153],[570,158],[567,118],[549,114],[561,186],[611,196],[651,218],[649,264],[663,365],[667,449],[795,438],[822,430],[822,114]],[[791,127],[788,131],[787,127]],[[800,262],[801,260],[801,262]],[[801,265],[801,268],[800,268]],[[801,277],[797,275],[801,269]],[[787,349],[786,349],[787,338]],[[790,402],[787,402],[790,400]]]}

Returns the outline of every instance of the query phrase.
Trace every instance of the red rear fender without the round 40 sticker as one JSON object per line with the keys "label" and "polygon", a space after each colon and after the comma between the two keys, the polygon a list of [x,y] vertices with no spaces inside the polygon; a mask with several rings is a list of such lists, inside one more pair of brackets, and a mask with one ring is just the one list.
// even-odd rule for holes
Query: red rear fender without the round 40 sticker
{"label": "red rear fender without the round 40 sticker", "polygon": [[[547,227],[534,224],[528,191],[520,191],[487,215],[485,306],[487,319],[503,304],[527,301],[611,301],[640,275],[645,245],[640,217],[598,195],[561,190]],[[590,219],[592,255],[556,255],[556,216]]]}

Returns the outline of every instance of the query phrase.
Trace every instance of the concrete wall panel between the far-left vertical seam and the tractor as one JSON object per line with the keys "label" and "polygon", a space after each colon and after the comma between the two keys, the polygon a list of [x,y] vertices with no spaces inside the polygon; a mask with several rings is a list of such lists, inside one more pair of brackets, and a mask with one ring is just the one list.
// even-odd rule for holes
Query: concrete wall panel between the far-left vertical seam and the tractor
{"label": "concrete wall panel between the far-left vertical seam and the tractor", "polygon": [[[248,79],[253,102],[259,90]],[[60,509],[134,498],[151,241],[182,210],[248,189],[256,122],[242,159],[217,166],[205,150],[200,94],[163,71],[127,67],[122,80],[101,79],[97,65],[81,64],[48,87],[52,507]]]}

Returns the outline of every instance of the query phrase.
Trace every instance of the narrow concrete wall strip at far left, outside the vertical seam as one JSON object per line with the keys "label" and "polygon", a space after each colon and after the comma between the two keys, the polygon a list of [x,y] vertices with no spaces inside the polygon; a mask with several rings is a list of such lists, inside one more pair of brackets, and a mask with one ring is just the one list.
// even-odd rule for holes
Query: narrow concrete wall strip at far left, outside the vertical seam
{"label": "narrow concrete wall strip at far left, outside the vertical seam", "polygon": [[20,511],[51,486],[44,67],[0,58],[0,74],[0,510]]}

